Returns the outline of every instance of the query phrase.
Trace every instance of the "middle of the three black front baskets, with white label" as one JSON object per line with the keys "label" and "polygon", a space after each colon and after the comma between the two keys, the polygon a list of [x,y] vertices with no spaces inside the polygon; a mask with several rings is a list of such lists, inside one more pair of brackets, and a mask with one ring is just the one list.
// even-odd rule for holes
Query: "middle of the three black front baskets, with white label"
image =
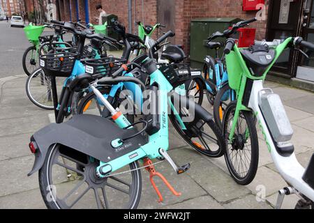
{"label": "middle of the three black front baskets, with white label", "polygon": [[124,63],[126,63],[126,59],[119,59],[112,56],[100,59],[91,59],[85,61],[85,72],[91,75],[110,76]]}

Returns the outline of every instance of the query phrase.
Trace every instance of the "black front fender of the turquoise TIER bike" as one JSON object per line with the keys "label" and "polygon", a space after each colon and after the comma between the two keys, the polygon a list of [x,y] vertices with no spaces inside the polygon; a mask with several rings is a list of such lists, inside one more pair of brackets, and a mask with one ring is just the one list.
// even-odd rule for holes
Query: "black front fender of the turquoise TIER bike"
{"label": "black front fender of the turquoise TIER bike", "polygon": [[194,109],[195,121],[200,120],[200,118],[202,118],[204,121],[211,121],[213,119],[213,115],[210,112],[204,109],[204,107],[195,103],[194,100],[189,100],[186,98],[185,95],[179,95],[178,93],[172,91],[170,97],[175,107],[177,107],[176,102],[180,102],[180,106],[187,107],[188,109],[192,110]]}

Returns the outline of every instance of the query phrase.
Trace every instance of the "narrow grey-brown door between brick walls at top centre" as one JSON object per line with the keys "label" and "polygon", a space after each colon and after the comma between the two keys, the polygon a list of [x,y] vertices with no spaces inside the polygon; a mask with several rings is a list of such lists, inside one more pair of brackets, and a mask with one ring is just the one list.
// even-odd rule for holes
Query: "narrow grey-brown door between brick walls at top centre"
{"label": "narrow grey-brown door between brick walls at top centre", "polygon": [[[158,0],[157,1],[157,22],[166,26],[161,28],[162,31],[158,32],[158,36],[163,35],[166,31],[175,32],[175,0]],[[154,24],[151,24],[154,25]],[[168,42],[175,44],[174,38],[169,38]]]}

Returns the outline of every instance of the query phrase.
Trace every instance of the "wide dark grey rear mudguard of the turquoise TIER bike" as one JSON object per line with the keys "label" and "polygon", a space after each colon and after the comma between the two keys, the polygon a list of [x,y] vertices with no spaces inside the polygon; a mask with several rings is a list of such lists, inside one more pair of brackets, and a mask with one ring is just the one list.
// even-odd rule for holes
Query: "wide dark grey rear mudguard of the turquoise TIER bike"
{"label": "wide dark grey rear mudguard of the turquoise TIER bike", "polygon": [[35,153],[33,169],[28,176],[43,166],[47,151],[55,144],[61,144],[97,160],[109,162],[147,144],[147,137],[139,134],[124,141],[124,144],[118,148],[111,146],[112,140],[124,139],[136,132],[138,132],[136,128],[124,130],[107,118],[89,114],[73,116],[65,123],[47,125],[33,134],[31,138],[36,141],[38,151]]}

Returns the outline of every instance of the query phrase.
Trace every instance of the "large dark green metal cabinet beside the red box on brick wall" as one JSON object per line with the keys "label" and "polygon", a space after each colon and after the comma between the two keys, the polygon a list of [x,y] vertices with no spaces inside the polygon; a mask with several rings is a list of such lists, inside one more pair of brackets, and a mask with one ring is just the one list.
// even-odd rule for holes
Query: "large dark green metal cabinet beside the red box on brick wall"
{"label": "large dark green metal cabinet beside the red box on brick wall", "polygon": [[[190,22],[190,66],[202,69],[205,56],[215,56],[215,50],[204,46],[207,38],[214,32],[223,32],[232,24],[241,21],[239,18],[201,18]],[[225,41],[225,38],[217,38],[215,41]],[[223,49],[220,49],[220,55]]]}

